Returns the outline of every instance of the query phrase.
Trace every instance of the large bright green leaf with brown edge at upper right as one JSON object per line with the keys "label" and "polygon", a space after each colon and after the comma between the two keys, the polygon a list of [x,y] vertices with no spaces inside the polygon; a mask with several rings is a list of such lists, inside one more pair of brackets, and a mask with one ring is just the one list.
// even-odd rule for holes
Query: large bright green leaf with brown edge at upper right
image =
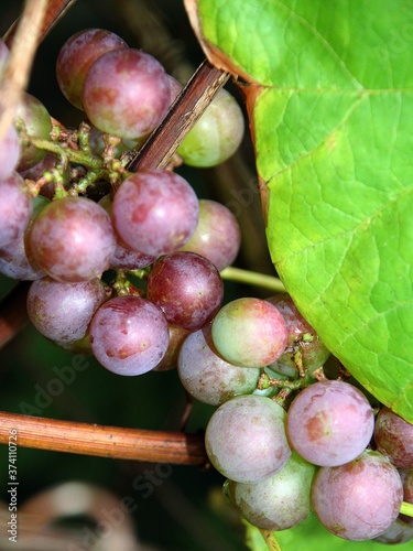
{"label": "large bright green leaf with brown edge at upper right", "polygon": [[186,0],[239,76],[274,266],[377,399],[413,422],[413,3]]}

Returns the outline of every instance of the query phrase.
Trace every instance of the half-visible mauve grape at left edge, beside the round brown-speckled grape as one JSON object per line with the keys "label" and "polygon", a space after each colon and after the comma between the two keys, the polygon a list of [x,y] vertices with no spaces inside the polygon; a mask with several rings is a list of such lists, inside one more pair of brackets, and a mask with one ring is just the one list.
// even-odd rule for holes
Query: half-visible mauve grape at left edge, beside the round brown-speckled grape
{"label": "half-visible mauve grape at left edge, beside the round brown-speckled grape", "polygon": [[0,181],[0,248],[7,248],[24,234],[32,216],[32,199],[17,172]]}

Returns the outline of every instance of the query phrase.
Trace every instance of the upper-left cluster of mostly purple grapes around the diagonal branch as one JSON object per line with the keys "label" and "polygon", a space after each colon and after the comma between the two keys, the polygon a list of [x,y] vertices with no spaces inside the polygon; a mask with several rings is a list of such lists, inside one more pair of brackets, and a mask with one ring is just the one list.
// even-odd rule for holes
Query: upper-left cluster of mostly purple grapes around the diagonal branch
{"label": "upper-left cluster of mostly purple grapes around the diagonal branch", "polygon": [[[1,69],[4,43],[0,54]],[[63,45],[56,77],[85,123],[68,134],[23,95],[0,148],[7,151],[0,272],[32,281],[29,317],[59,346],[94,354],[119,375],[166,369],[183,337],[221,305],[219,271],[238,255],[238,222],[224,205],[198,199],[173,166],[127,170],[124,153],[144,143],[182,89],[157,60],[112,32],[87,29]],[[195,149],[199,165],[213,165],[238,148],[243,115],[227,91],[194,136],[205,138],[222,123],[222,140],[203,140],[200,153],[189,132],[184,156]],[[84,156],[66,158],[69,148]],[[177,160],[174,166],[183,156]]]}

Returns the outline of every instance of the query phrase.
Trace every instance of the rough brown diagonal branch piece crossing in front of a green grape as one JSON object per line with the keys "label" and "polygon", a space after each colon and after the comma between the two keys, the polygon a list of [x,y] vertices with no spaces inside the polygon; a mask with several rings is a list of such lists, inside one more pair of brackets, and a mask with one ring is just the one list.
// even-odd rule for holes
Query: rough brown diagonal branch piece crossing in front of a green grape
{"label": "rough brown diagonal branch piece crossing in front of a green grape", "polygon": [[178,95],[163,122],[148,138],[127,169],[164,169],[177,147],[194,127],[229,74],[204,61]]}

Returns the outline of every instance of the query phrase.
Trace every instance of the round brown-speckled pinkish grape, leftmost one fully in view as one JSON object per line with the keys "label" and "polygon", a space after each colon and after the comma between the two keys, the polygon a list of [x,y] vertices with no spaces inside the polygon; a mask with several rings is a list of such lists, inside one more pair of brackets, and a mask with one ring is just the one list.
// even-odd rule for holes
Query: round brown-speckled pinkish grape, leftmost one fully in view
{"label": "round brown-speckled pinkish grape, leftmost one fully in view", "polygon": [[86,197],[64,197],[47,205],[30,233],[37,264],[63,282],[88,281],[109,268],[116,238],[107,212]]}

